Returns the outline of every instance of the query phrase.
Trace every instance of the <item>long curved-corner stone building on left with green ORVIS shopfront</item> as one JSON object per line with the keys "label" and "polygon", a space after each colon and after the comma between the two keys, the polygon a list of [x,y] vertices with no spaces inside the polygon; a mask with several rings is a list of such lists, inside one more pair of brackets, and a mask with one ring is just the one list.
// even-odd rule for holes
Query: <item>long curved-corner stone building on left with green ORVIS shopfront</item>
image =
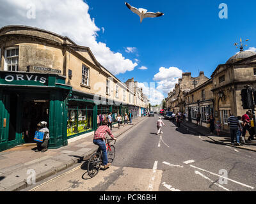
{"label": "long curved-corner stone building on left with green ORVIS shopfront", "polygon": [[[88,47],[35,27],[0,29],[0,151],[33,142],[45,120],[49,148],[95,131],[109,112],[116,121],[135,92],[95,59]],[[141,98],[139,98],[141,99]]]}

